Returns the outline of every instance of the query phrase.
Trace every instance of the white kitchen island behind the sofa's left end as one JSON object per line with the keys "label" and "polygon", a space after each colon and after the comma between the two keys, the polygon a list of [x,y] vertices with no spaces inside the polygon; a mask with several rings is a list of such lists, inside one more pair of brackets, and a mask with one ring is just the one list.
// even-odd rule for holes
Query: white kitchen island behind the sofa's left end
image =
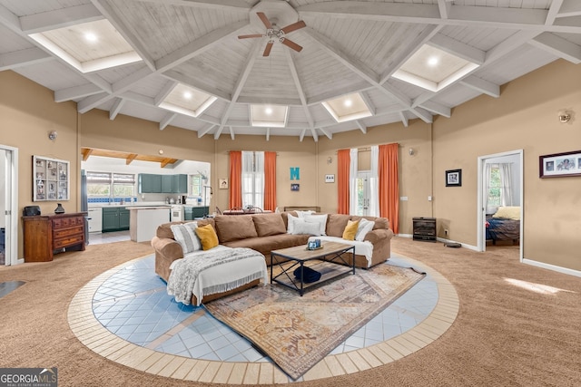
{"label": "white kitchen island behind the sofa's left end", "polygon": [[129,235],[133,242],[151,241],[155,230],[162,223],[170,221],[168,206],[135,206],[129,209]]}

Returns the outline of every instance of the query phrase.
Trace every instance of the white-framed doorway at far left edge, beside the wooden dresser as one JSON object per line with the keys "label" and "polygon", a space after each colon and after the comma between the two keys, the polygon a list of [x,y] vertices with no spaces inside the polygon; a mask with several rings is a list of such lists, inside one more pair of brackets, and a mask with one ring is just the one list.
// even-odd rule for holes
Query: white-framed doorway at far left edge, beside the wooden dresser
{"label": "white-framed doorway at far left edge, beside the wooden dresser", "polygon": [[0,264],[18,262],[18,150],[0,144]]}

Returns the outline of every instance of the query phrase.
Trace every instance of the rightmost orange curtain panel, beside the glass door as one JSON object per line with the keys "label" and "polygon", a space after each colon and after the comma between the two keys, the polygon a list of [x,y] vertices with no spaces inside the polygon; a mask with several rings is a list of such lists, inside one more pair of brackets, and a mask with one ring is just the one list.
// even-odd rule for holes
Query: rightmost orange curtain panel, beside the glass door
{"label": "rightmost orange curtain panel, beside the glass door", "polygon": [[379,216],[399,233],[399,144],[379,145]]}

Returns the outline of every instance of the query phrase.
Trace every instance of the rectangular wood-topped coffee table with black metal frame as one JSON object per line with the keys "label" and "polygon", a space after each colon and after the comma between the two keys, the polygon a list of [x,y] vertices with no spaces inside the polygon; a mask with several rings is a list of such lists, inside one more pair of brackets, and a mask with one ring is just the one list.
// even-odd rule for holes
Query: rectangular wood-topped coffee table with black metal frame
{"label": "rectangular wood-topped coffee table with black metal frame", "polygon": [[[343,255],[351,252],[353,259],[350,265]],[[305,284],[304,267],[318,270],[321,273],[320,280]],[[341,270],[341,267],[349,266],[349,270]],[[274,275],[275,267],[280,272]],[[293,269],[300,268],[300,279],[292,274]],[[330,280],[346,274],[355,274],[355,247],[339,242],[323,242],[320,248],[310,250],[307,245],[281,248],[271,251],[271,284],[276,282],[299,292],[302,296],[306,289],[319,286]]]}

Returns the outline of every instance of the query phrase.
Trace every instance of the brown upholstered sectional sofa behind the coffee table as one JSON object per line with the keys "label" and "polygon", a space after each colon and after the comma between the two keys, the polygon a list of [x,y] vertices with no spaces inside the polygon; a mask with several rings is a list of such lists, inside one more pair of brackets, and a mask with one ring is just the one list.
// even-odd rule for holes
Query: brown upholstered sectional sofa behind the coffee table
{"label": "brown upholstered sectional sofa behind the coffee table", "polygon": [[[263,213],[239,216],[217,216],[197,220],[198,226],[212,225],[216,230],[219,243],[227,247],[250,247],[266,257],[266,264],[271,265],[271,251],[286,247],[306,245],[309,234],[288,233],[289,214],[296,217],[297,213]],[[328,214],[325,224],[325,234],[327,237],[342,237],[343,230],[349,220],[357,220],[361,217]],[[369,241],[372,247],[370,256],[359,255],[356,246],[355,265],[358,267],[371,267],[385,262],[391,254],[391,238],[393,232],[389,229],[387,218],[363,217],[374,222],[373,229],[369,231],[364,241]],[[155,250],[155,272],[166,282],[170,276],[170,265],[176,259],[183,257],[182,247],[173,238],[172,224],[164,223],[157,228],[156,235],[152,239],[152,246]],[[325,239],[325,237],[320,237]],[[369,243],[367,243],[369,245]],[[369,258],[369,259],[368,259]],[[351,261],[349,254],[346,260]],[[204,298],[204,301],[205,298]]]}

